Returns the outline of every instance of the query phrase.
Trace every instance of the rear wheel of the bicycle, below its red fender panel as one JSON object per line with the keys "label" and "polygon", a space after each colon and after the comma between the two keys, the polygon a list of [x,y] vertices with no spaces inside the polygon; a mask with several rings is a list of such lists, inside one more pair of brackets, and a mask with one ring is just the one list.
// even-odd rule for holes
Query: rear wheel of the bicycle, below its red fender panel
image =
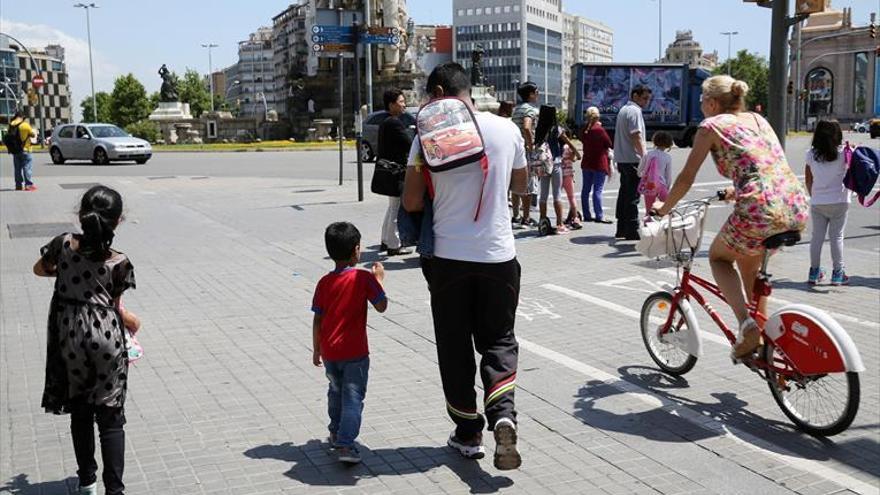
{"label": "rear wheel of the bicycle, below its red fender panel", "polygon": [[[788,362],[770,341],[764,346],[764,359],[777,366]],[[853,371],[786,377],[768,368],[767,385],[788,419],[810,435],[846,430],[859,410],[859,374]]]}

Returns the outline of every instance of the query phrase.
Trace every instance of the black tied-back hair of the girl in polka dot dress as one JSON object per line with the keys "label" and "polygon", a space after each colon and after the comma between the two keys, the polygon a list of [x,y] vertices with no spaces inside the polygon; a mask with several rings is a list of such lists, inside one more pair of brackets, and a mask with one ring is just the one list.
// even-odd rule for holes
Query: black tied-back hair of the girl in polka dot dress
{"label": "black tied-back hair of the girl in polka dot dress", "polygon": [[94,261],[110,257],[113,230],[122,217],[122,196],[106,186],[95,186],[83,195],[79,221],[83,234],[79,253]]}

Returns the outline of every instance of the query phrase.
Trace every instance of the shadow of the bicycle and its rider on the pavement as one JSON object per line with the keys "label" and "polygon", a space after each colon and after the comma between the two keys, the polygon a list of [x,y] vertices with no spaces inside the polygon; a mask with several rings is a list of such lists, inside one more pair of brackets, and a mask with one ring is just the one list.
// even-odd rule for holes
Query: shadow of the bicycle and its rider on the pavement
{"label": "shadow of the bicycle and its rider on the pavement", "polygon": [[[834,460],[859,471],[880,476],[880,465],[874,460],[880,455],[880,444],[867,435],[876,428],[874,425],[854,425],[848,431],[831,438],[812,437],[796,430],[785,421],[766,418],[749,411],[749,403],[733,392],[715,392],[710,395],[717,402],[701,402],[683,394],[689,388],[683,377],[675,377],[645,366],[623,366],[617,370],[621,380],[636,385],[660,399],[669,400],[686,407],[706,418],[726,426],[734,427],[754,438],[763,440],[760,449],[805,459],[825,461]],[[635,401],[627,401],[624,407],[607,410],[599,401],[623,392],[605,382],[593,381],[583,386],[575,406],[575,416],[584,423],[609,431],[637,434],[645,438],[663,442],[689,442],[726,434],[725,430],[712,430],[699,426],[680,416],[664,410],[658,402],[656,407],[632,407]],[[767,392],[768,399],[770,392]],[[612,404],[609,402],[609,404]],[[749,442],[750,438],[740,438]]]}

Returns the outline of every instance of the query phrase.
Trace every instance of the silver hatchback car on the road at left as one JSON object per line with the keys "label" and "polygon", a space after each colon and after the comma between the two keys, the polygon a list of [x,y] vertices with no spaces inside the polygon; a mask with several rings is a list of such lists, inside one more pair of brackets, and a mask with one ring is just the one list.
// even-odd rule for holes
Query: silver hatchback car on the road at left
{"label": "silver hatchback car on the road at left", "polygon": [[91,160],[96,165],[133,160],[143,164],[153,156],[153,149],[147,141],[113,124],[65,124],[53,130],[49,154],[57,165],[67,160]]}

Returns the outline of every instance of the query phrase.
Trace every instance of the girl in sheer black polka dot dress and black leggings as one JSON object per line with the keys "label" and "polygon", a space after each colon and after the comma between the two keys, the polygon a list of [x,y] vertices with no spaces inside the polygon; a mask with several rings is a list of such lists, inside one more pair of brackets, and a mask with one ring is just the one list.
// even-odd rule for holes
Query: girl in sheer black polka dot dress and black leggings
{"label": "girl in sheer black polka dot dress and black leggings", "polygon": [[105,186],[83,195],[82,234],[62,234],[45,245],[34,273],[55,277],[49,308],[46,383],[42,406],[70,413],[80,493],[97,493],[97,422],[108,494],[123,493],[125,393],[128,388],[126,323],[137,317],[123,309],[123,292],[135,287],[128,257],[110,249],[122,218],[122,197]]}

